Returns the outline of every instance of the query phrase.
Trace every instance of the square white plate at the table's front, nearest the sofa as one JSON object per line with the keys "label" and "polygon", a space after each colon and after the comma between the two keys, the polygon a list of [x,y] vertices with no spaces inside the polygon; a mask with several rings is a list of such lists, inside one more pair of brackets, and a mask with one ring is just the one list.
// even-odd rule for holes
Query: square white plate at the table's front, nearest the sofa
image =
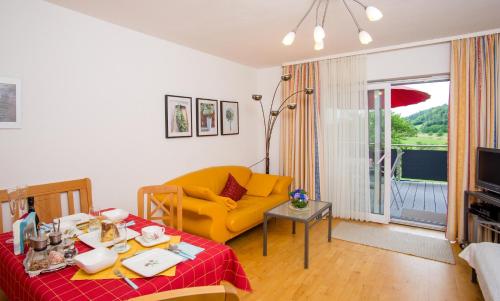
{"label": "square white plate at the table's front, nearest the sofa", "polygon": [[186,260],[165,249],[151,249],[122,261],[122,265],[144,277],[152,277]]}

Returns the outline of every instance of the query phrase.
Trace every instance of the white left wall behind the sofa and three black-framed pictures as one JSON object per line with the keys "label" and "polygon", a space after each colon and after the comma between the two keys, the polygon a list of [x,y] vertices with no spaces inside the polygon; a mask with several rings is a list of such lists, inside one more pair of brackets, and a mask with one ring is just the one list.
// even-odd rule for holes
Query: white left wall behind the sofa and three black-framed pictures
{"label": "white left wall behind the sofa and three black-framed pictures", "polygon": [[[94,203],[263,155],[257,71],[40,0],[0,2],[0,77],[22,80],[22,129],[0,129],[0,187],[89,177]],[[240,134],[166,139],[164,95],[240,102]],[[195,136],[195,132],[193,133]]]}

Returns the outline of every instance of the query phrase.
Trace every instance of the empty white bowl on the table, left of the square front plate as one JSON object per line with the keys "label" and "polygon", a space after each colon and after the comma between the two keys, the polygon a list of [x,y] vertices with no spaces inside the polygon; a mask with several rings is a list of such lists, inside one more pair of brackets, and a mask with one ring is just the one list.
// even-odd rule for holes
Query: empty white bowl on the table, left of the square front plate
{"label": "empty white bowl on the table, left of the square front plate", "polygon": [[95,274],[115,264],[117,259],[115,251],[101,247],[76,255],[73,260],[87,274]]}

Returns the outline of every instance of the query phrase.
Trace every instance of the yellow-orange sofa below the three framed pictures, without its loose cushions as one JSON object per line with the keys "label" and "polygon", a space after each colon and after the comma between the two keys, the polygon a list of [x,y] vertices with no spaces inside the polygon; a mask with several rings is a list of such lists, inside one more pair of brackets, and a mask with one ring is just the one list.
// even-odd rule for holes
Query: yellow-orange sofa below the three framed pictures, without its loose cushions
{"label": "yellow-orange sofa below the three framed pictures, without its loose cushions", "polygon": [[[231,173],[238,183],[246,187],[252,171],[242,166],[218,166],[188,173],[164,185],[182,187],[200,186],[220,194]],[[200,235],[217,242],[227,240],[260,224],[266,210],[279,205],[288,199],[288,187],[291,177],[278,177],[272,192],[267,197],[244,195],[237,202],[235,209],[208,200],[191,197],[187,194],[182,199],[183,230]]]}

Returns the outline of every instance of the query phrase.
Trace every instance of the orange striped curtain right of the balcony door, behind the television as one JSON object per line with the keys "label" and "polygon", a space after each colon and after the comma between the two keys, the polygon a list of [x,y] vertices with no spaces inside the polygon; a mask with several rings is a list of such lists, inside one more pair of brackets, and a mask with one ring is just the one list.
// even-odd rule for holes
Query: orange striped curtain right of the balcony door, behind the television
{"label": "orange striped curtain right of the balcony door, behind the television", "polygon": [[500,35],[451,43],[449,240],[463,240],[463,193],[475,189],[476,149],[499,148]]}

